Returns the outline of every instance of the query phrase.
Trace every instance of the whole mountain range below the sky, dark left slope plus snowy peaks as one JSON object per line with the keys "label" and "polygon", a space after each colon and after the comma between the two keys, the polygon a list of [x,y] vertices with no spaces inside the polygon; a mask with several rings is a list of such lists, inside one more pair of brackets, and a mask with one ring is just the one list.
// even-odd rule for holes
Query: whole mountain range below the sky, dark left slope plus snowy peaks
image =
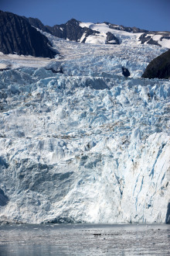
{"label": "whole mountain range below the sky, dark left slope plus snowy peaks", "polygon": [[[120,44],[122,40],[135,40],[141,44],[155,44],[170,48],[169,32],[150,32],[136,27],[104,23],[80,22],[70,19],[65,24],[44,26],[39,19],[17,16],[0,11],[0,51],[3,54],[23,54],[35,57],[54,57],[52,43],[45,33],[79,43]],[[39,33],[40,29],[44,34]],[[130,41],[129,41],[130,42]],[[129,43],[127,42],[127,43]]]}

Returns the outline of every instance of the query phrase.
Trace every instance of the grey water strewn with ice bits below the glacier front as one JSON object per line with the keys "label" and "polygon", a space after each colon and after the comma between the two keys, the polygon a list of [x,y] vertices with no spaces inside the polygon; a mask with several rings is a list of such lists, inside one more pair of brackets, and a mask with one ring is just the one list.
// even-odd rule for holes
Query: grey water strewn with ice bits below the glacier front
{"label": "grey water strewn with ice bits below the glacier front", "polygon": [[13,255],[170,255],[170,226],[0,226],[0,256]]}

